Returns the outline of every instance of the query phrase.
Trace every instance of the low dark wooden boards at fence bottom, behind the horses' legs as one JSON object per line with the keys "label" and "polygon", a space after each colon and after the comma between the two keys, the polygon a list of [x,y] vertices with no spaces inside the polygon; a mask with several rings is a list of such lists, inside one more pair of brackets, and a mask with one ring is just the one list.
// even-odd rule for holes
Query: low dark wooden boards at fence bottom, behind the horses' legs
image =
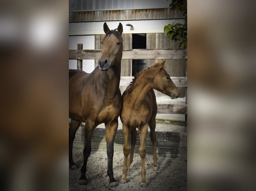
{"label": "low dark wooden boards at fence bottom, behind the horses' legs", "polygon": [[[77,130],[76,137],[73,143],[75,147],[84,147],[84,125],[80,126]],[[123,150],[123,132],[121,129],[117,129],[114,150]],[[150,140],[149,133],[146,137],[146,149],[147,153],[153,153],[152,142]],[[170,154],[172,157],[186,157],[187,155],[187,133],[185,132],[162,132],[156,131],[156,152],[158,154]],[[92,149],[106,150],[106,137],[105,128],[95,128],[92,141]],[[137,133],[137,141],[135,144],[135,152],[139,152],[140,139],[139,133]]]}

